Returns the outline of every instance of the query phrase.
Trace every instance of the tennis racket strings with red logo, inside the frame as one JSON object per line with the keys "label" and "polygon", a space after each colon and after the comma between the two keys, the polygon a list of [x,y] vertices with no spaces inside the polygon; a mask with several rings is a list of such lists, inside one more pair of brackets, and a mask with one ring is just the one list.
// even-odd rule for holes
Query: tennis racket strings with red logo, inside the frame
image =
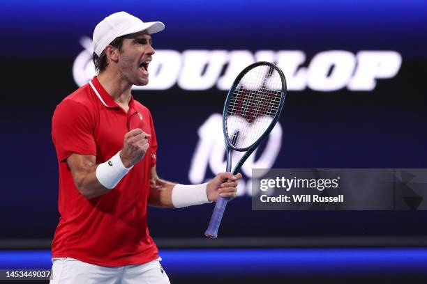
{"label": "tennis racket strings with red logo, inside the frame", "polygon": [[267,130],[279,111],[282,81],[275,68],[259,65],[241,78],[226,110],[230,143],[247,148]]}

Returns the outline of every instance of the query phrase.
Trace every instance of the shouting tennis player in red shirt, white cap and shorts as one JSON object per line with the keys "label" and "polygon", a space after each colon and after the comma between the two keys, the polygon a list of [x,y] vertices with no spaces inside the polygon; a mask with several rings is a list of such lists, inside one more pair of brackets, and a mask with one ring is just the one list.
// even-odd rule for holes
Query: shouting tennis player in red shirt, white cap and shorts
{"label": "shouting tennis player in red shirt, white cap and shorts", "polygon": [[156,173],[153,119],[130,89],[148,84],[150,35],[163,29],[125,12],[103,19],[93,31],[98,76],[54,112],[61,217],[51,283],[170,283],[149,235],[147,205],[179,208],[236,196],[240,174],[183,185]]}

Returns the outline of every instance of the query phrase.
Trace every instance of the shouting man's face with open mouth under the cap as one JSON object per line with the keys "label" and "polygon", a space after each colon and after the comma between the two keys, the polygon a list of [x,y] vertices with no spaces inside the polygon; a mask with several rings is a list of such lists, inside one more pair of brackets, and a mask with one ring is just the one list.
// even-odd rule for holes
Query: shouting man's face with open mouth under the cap
{"label": "shouting man's face with open mouth under the cap", "polygon": [[145,32],[135,33],[123,40],[119,55],[119,72],[123,79],[133,85],[144,86],[149,82],[148,66],[154,54],[151,36]]}

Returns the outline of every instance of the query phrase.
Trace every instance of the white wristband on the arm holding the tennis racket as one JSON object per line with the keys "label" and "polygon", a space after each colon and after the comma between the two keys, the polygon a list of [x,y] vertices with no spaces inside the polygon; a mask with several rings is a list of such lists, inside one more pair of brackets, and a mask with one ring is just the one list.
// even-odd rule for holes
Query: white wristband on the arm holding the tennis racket
{"label": "white wristband on the arm holding the tennis racket", "polygon": [[172,204],[175,208],[211,203],[207,198],[207,183],[176,184],[172,189]]}

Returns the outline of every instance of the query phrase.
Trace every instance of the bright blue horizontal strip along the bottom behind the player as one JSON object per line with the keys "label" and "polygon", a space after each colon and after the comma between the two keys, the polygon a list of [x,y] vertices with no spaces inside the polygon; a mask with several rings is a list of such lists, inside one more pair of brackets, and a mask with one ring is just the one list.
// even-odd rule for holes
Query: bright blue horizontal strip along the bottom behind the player
{"label": "bright blue horizontal strip along the bottom behind the player", "polygon": [[[427,276],[427,248],[164,249],[160,256],[176,277]],[[0,251],[0,269],[50,267],[47,250]]]}

